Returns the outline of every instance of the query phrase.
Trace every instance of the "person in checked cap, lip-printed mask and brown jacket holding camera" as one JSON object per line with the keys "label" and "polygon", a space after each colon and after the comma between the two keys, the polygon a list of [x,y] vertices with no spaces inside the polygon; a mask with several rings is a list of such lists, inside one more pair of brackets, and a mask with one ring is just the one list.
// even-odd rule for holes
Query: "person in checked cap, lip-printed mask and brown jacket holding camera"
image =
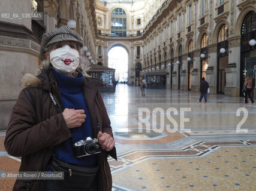
{"label": "person in checked cap, lip-printed mask and brown jacket holding camera", "polygon": [[64,180],[16,180],[13,190],[112,190],[115,140],[98,87],[84,72],[83,39],[67,26],[43,35],[38,76],[25,75],[5,149],[20,171],[63,171]]}

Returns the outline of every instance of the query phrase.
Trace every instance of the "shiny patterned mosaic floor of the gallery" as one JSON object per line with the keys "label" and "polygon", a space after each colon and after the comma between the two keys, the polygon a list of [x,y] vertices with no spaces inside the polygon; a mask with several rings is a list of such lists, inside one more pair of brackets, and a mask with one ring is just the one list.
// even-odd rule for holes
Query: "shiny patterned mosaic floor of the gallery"
{"label": "shiny patterned mosaic floor of the gallery", "polygon": [[[104,93],[118,161],[109,159],[113,191],[256,190],[256,105],[243,98],[146,90],[118,85]],[[203,101],[202,101],[203,102]],[[0,173],[16,171],[20,160],[4,150]],[[11,190],[13,180],[1,180]]]}

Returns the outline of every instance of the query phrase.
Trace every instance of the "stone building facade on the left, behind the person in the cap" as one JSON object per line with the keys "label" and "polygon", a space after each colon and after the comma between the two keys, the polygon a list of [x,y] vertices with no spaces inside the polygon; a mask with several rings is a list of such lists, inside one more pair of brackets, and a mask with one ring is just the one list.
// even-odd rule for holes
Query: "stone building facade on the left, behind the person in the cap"
{"label": "stone building facade on the left, behind the person in the cap", "polygon": [[[25,73],[37,74],[43,33],[76,21],[76,30],[91,56],[96,50],[95,2],[83,0],[3,0],[0,2],[0,130],[7,128]],[[40,18],[28,18],[40,13]],[[15,16],[19,15],[20,19]],[[39,16],[38,16],[39,17]]]}

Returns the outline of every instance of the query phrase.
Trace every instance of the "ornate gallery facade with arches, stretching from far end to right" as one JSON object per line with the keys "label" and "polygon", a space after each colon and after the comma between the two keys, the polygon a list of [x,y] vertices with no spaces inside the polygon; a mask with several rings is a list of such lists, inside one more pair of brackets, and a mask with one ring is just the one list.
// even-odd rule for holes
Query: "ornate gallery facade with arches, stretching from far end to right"
{"label": "ornate gallery facade with arches, stretching from far end to right", "polygon": [[168,70],[173,90],[199,91],[205,77],[211,93],[242,96],[245,78],[255,78],[255,1],[125,2],[96,2],[97,61],[107,66],[112,47],[126,48],[130,84],[140,64]]}

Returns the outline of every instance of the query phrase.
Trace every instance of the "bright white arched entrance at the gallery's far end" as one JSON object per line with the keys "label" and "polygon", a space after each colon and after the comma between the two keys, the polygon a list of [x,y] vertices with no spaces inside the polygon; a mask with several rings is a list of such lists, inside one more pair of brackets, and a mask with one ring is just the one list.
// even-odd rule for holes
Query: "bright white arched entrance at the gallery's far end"
{"label": "bright white arched entrance at the gallery's far end", "polygon": [[128,81],[128,53],[124,47],[114,46],[108,53],[109,67],[116,69],[115,80],[119,82]]}

